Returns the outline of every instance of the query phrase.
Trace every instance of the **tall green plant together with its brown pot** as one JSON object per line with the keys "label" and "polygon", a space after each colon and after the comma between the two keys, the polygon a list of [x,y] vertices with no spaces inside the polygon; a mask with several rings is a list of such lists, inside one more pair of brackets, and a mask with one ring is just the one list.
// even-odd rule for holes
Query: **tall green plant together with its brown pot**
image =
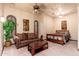
{"label": "tall green plant together with its brown pot", "polygon": [[15,22],[12,20],[6,20],[3,23],[5,46],[8,47],[11,45],[11,38],[13,37],[12,33],[15,28]]}

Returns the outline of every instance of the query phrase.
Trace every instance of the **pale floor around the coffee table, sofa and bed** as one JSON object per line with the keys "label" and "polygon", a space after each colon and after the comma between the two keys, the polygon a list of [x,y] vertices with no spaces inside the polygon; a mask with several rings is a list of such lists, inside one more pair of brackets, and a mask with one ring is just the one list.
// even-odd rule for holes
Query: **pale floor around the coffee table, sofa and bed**
{"label": "pale floor around the coffee table, sofa and bed", "polygon": [[[52,42],[48,42],[48,44],[48,49],[35,54],[35,56],[79,56],[76,41],[69,41],[65,45]],[[31,56],[31,54],[27,50],[27,47],[16,49],[16,47],[12,45],[11,47],[4,48],[2,56]]]}

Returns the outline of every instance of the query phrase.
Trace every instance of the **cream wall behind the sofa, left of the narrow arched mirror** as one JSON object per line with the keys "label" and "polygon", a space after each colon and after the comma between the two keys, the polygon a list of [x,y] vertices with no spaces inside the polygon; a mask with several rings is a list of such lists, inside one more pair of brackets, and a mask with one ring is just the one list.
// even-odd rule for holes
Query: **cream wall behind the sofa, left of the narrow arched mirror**
{"label": "cream wall behind the sofa, left of the narrow arched mirror", "polygon": [[18,10],[16,8],[8,8],[5,7],[5,18],[8,15],[13,15],[17,19],[17,33],[22,33],[23,31],[23,19],[29,20],[29,31],[26,32],[34,32],[34,19],[32,13],[28,13],[22,10]]}

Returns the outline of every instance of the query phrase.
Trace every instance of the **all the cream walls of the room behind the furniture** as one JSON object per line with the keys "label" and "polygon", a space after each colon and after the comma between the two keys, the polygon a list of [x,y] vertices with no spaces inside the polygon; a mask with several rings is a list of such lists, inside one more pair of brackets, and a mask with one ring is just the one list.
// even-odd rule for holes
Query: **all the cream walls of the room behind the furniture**
{"label": "all the cream walls of the room behind the furniture", "polygon": [[[1,15],[1,11],[0,11]],[[5,7],[5,18],[7,15],[13,15],[17,19],[17,33],[23,32],[23,19],[29,19],[29,31],[34,32],[34,20],[39,22],[39,36],[43,35],[46,38],[46,34],[55,33],[56,30],[61,29],[61,21],[67,20],[67,27],[71,33],[73,40],[77,40],[77,14],[68,15],[62,19],[54,19],[46,14],[34,15],[29,12],[18,10],[16,8]]]}

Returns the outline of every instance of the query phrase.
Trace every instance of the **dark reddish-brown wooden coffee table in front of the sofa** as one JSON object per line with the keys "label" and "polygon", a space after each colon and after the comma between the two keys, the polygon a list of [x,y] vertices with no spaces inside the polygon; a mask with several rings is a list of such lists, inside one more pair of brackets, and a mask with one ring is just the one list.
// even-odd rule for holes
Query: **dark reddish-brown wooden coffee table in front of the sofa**
{"label": "dark reddish-brown wooden coffee table in front of the sofa", "polygon": [[37,51],[42,51],[48,48],[47,41],[35,41],[28,45],[28,51],[33,55],[37,53]]}

